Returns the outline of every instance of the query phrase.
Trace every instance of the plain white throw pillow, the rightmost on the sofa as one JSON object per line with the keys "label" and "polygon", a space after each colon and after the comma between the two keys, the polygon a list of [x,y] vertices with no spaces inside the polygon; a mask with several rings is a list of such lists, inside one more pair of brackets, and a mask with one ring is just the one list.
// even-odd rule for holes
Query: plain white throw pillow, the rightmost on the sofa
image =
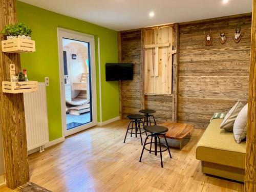
{"label": "plain white throw pillow, the rightmost on the sofa", "polygon": [[238,143],[241,143],[241,141],[246,138],[247,112],[248,112],[248,103],[243,107],[243,109],[238,114],[236,120],[234,121],[234,127],[233,127],[234,139],[236,139]]}

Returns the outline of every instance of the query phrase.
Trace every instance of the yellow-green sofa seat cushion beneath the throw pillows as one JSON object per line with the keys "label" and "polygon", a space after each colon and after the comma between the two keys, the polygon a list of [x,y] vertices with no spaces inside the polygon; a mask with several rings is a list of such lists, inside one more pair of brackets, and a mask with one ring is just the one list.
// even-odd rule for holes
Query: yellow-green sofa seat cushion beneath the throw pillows
{"label": "yellow-green sofa seat cushion beneath the throw pillows", "polygon": [[232,132],[220,129],[222,119],[212,119],[197,144],[196,158],[202,161],[245,168],[246,142],[237,143]]}

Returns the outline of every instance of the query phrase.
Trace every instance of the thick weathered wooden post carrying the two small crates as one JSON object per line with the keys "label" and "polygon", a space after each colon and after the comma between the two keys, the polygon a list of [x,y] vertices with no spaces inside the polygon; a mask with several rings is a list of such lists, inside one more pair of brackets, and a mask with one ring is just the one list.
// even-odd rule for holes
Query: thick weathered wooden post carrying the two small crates
{"label": "thick weathered wooden post carrying the two small crates", "polygon": [[[0,0],[0,31],[7,24],[15,24],[16,0]],[[0,35],[4,40],[3,35]],[[9,65],[13,63],[16,73],[21,71],[19,54],[3,53],[0,47],[0,81],[9,77]],[[29,181],[26,125],[23,94],[2,92],[0,83],[0,128],[2,130],[5,175],[7,186],[14,189]]]}

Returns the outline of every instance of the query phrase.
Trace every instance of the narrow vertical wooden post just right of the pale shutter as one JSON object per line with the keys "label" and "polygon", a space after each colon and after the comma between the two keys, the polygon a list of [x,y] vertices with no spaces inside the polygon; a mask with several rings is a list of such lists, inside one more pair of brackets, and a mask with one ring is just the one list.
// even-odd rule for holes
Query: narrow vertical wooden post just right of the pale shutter
{"label": "narrow vertical wooden post just right of the pale shutter", "polygon": [[172,104],[172,121],[178,122],[178,73],[179,73],[179,24],[174,24],[174,54],[173,60],[173,104]]}

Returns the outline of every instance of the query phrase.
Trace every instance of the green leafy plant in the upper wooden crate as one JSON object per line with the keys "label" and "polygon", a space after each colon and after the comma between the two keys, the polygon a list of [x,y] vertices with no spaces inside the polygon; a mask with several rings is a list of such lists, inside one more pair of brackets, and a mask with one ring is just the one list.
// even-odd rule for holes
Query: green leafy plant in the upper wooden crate
{"label": "green leafy plant in the upper wooden crate", "polygon": [[15,25],[6,25],[2,33],[6,36],[18,36],[18,35],[27,35],[31,36],[32,30],[26,26],[24,23],[18,23]]}

